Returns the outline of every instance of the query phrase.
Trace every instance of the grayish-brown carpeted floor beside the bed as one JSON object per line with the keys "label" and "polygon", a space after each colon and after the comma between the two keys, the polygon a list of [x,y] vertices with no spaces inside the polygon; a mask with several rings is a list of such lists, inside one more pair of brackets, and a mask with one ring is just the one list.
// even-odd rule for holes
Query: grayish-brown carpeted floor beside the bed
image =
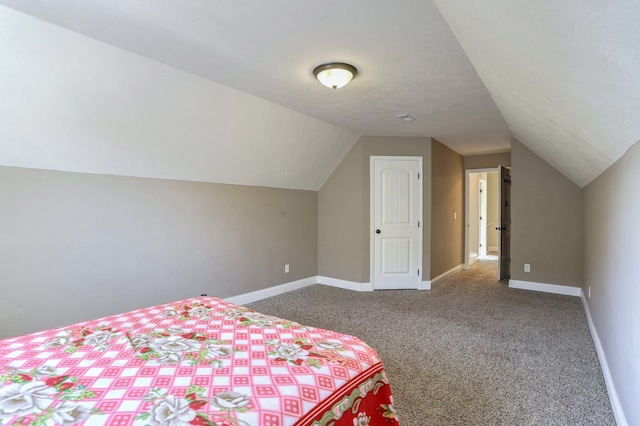
{"label": "grayish-brown carpeted floor beside the bed", "polygon": [[373,346],[403,426],[615,425],[580,299],[495,275],[477,262],[430,291],[314,285],[248,306]]}

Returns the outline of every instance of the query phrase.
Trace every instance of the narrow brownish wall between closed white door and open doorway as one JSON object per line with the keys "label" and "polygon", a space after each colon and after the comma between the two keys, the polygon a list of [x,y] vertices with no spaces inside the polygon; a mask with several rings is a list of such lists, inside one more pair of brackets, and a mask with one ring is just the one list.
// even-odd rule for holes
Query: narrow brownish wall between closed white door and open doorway
{"label": "narrow brownish wall between closed white door and open doorway", "polygon": [[435,278],[464,263],[464,168],[462,156],[435,139],[431,156],[431,278]]}

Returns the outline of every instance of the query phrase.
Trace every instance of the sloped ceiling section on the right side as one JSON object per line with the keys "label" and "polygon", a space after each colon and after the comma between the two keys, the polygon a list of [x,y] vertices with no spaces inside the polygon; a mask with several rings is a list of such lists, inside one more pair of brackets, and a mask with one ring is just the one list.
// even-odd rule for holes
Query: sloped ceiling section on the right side
{"label": "sloped ceiling section on the right side", "polygon": [[435,2],[514,136],[575,183],[640,140],[638,2]]}

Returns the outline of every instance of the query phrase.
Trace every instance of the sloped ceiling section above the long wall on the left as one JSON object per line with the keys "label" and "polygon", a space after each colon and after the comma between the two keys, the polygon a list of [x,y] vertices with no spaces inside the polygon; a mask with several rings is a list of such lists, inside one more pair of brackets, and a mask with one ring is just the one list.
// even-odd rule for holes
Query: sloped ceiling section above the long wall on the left
{"label": "sloped ceiling section above the long wall on the left", "polygon": [[358,135],[0,7],[0,165],[317,190]]}

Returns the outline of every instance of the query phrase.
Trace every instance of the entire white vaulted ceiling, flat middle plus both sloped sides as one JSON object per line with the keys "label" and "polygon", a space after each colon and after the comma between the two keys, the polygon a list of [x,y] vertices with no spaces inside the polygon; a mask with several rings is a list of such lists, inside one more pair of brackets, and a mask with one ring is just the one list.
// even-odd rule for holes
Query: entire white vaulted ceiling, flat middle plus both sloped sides
{"label": "entire white vaulted ceiling, flat middle plus both sloped sides", "polygon": [[318,189],[361,135],[515,137],[584,186],[640,139],[632,3],[0,0],[0,164]]}

